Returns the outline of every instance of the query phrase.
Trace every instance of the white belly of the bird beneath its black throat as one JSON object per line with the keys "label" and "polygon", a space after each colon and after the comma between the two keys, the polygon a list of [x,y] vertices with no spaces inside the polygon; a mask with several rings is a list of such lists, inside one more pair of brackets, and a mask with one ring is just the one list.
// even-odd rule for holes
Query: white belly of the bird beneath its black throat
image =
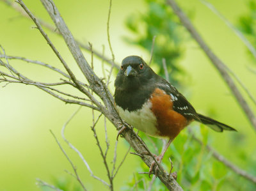
{"label": "white belly of the bird beneath its black throat", "polygon": [[137,128],[141,132],[145,132],[148,135],[156,137],[159,135],[159,131],[156,128],[157,119],[151,111],[152,103],[146,102],[142,105],[141,109],[129,112],[127,109],[122,109],[116,105],[116,109],[119,115],[125,122]]}

